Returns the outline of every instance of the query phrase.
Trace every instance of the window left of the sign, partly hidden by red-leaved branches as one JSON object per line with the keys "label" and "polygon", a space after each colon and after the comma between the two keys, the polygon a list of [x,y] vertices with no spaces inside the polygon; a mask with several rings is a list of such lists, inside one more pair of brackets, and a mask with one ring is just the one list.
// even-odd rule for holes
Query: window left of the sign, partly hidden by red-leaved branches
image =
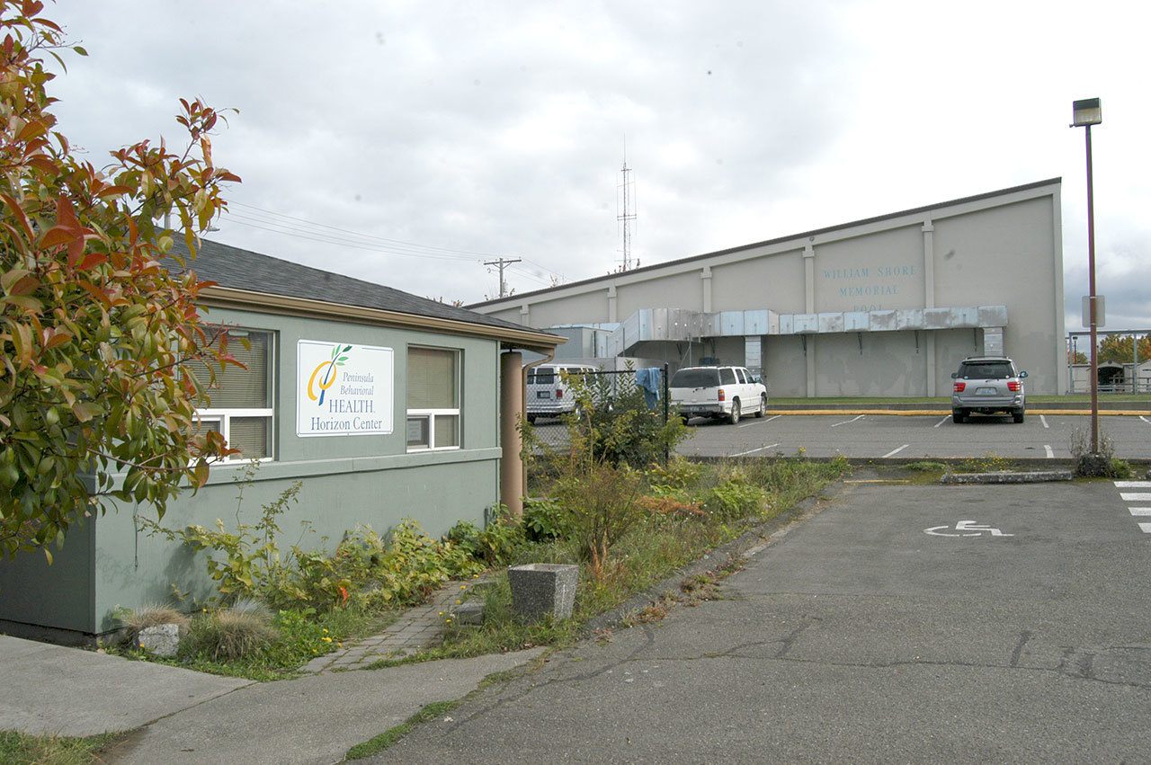
{"label": "window left of the sign, partly hidden by red-leaved branches", "polygon": [[[272,459],[273,369],[275,336],[268,331],[228,328],[228,353],[244,365],[215,368],[215,380],[200,361],[189,362],[207,400],[198,410],[200,428],[218,430],[241,450],[224,462]],[[219,342],[219,341],[218,341]]]}

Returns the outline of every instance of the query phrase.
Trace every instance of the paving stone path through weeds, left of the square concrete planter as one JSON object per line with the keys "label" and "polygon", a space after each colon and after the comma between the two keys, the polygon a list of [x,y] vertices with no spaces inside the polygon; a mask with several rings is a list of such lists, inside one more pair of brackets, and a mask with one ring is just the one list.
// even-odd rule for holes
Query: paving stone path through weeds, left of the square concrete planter
{"label": "paving stone path through weeds, left of the square concrete planter", "polygon": [[444,615],[456,607],[456,600],[463,599],[462,594],[483,582],[482,579],[448,582],[427,603],[409,609],[379,635],[356,643],[345,641],[344,648],[315,657],[300,672],[320,674],[333,670],[363,670],[380,659],[403,658],[436,645],[443,638]]}

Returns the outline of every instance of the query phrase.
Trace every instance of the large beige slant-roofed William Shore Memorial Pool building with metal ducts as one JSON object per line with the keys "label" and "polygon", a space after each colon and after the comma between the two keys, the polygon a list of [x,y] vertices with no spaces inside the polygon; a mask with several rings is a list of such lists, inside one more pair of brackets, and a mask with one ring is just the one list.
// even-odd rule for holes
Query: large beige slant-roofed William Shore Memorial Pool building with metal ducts
{"label": "large beige slant-roofed William Shore Memorial Pool building with metal ducts", "polygon": [[1052,178],[470,307],[573,357],[761,369],[775,396],[944,396],[980,353],[1061,393],[1061,242]]}

